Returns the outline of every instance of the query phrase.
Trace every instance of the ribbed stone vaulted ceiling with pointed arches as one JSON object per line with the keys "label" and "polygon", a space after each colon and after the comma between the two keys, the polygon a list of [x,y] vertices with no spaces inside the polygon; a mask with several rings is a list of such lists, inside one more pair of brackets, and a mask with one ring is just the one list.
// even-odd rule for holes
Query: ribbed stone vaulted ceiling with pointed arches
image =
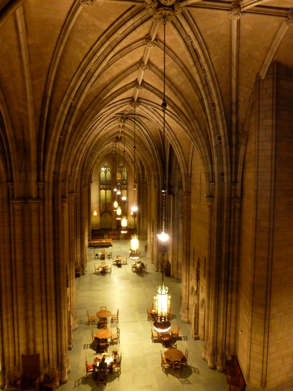
{"label": "ribbed stone vaulted ceiling with pointed arches", "polygon": [[57,165],[90,173],[117,149],[124,123],[132,155],[134,109],[138,156],[156,169],[165,15],[167,141],[183,176],[196,148],[211,180],[217,170],[236,180],[257,75],[274,61],[293,67],[291,8],[293,0],[0,0],[8,176],[14,150],[39,180]]}

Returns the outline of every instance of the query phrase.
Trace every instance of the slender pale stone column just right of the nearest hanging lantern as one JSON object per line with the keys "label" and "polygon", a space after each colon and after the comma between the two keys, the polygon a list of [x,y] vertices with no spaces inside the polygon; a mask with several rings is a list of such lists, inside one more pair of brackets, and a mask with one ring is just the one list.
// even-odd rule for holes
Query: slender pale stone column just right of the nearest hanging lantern
{"label": "slender pale stone column just right of the nearest hanging lantern", "polygon": [[180,316],[189,323],[190,193],[183,193],[183,261]]}

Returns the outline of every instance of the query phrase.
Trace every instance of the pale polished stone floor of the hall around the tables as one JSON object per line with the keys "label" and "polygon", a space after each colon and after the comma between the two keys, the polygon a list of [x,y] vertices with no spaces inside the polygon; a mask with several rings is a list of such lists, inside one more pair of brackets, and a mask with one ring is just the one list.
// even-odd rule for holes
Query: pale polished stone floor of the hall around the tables
{"label": "pale polished stone floor of the hall around the tables", "polygon": [[[120,254],[128,256],[129,240],[114,240],[113,256]],[[181,281],[172,277],[164,279],[169,285],[171,295],[171,328],[180,325],[177,348],[185,352],[188,348],[188,368],[183,368],[181,374],[162,371],[161,351],[166,350],[159,343],[151,342],[152,323],[147,321],[147,307],[151,307],[156,294],[155,285],[161,283],[161,273],[155,272],[149,259],[146,259],[145,242],[140,241],[141,260],[147,264],[147,273],[136,275],[131,272],[131,264],[122,268],[112,266],[112,273],[95,274],[94,249],[88,249],[87,272],[76,278],[76,304],[78,329],[73,332],[73,348],[69,351],[71,372],[68,382],[60,386],[61,391],[71,390],[104,390],[90,377],[85,377],[85,358],[92,364],[95,351],[91,348],[91,330],[95,326],[87,326],[88,310],[95,315],[101,305],[106,305],[112,313],[119,308],[120,345],[109,347],[108,352],[116,348],[122,353],[121,375],[108,375],[106,385],[111,391],[228,391],[226,376],[216,370],[209,369],[202,360],[202,341],[194,341],[191,337],[191,324],[181,322],[179,316]],[[101,251],[101,250],[99,250]],[[109,263],[109,262],[107,262]],[[96,318],[98,321],[98,318]],[[108,324],[113,332],[117,324]]]}

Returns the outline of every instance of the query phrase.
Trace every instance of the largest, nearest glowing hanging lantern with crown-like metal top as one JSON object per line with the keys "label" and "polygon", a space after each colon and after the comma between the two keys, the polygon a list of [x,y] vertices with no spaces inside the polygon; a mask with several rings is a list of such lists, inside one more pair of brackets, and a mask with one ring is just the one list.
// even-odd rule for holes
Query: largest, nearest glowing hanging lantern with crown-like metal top
{"label": "largest, nearest glowing hanging lantern with crown-like metal top", "polygon": [[171,328],[169,321],[171,297],[168,295],[169,287],[164,285],[164,278],[162,285],[156,286],[156,290],[157,297],[154,298],[154,304],[157,319],[154,322],[154,329],[159,333],[167,333]]}

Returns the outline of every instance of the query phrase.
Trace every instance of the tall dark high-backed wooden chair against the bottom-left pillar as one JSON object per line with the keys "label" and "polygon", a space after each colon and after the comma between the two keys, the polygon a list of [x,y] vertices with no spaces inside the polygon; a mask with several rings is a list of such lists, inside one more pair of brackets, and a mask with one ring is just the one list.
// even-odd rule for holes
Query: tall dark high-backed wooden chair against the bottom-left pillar
{"label": "tall dark high-backed wooden chair against the bottom-left pillar", "polygon": [[40,353],[21,354],[19,391],[40,391]]}

